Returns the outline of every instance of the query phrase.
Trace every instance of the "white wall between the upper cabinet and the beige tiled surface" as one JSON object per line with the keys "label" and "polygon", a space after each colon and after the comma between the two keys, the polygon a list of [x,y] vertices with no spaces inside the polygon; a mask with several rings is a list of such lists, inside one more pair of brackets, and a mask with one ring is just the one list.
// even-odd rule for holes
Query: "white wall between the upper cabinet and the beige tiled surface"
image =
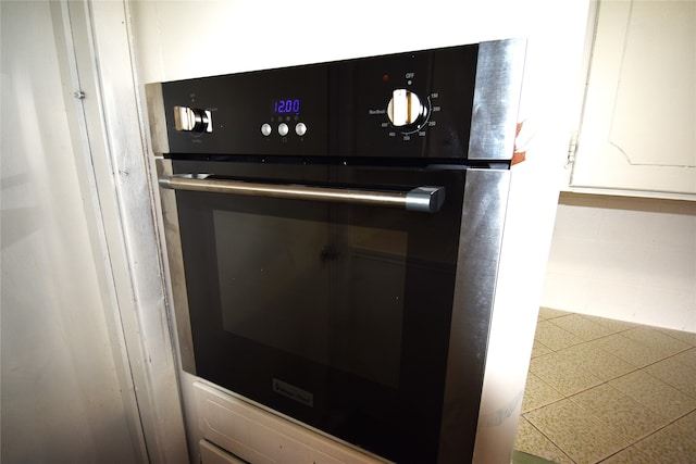
{"label": "white wall between the upper cabinet and the beige tiled surface", "polygon": [[563,193],[542,304],[696,333],[696,202]]}

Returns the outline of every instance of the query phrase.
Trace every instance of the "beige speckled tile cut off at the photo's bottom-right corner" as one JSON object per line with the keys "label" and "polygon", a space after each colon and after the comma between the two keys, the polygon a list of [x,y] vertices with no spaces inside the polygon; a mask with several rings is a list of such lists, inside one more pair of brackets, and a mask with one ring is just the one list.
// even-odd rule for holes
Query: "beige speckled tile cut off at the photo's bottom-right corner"
{"label": "beige speckled tile cut off at the photo's bottom-right corner", "polygon": [[670,425],[635,443],[654,463],[694,464],[696,440],[678,425]]}

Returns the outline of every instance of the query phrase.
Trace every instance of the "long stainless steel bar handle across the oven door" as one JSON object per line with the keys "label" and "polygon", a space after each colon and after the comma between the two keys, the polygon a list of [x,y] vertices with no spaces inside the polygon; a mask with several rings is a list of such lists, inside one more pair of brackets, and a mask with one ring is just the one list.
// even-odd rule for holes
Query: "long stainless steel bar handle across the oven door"
{"label": "long stainless steel bar handle across the oven door", "polygon": [[358,190],[351,188],[312,187],[304,185],[274,185],[245,180],[210,179],[206,175],[163,176],[160,186],[175,190],[196,190],[213,193],[251,197],[319,200],[337,203],[358,203],[405,208],[408,211],[436,213],[445,201],[445,187],[415,187],[409,191]]}

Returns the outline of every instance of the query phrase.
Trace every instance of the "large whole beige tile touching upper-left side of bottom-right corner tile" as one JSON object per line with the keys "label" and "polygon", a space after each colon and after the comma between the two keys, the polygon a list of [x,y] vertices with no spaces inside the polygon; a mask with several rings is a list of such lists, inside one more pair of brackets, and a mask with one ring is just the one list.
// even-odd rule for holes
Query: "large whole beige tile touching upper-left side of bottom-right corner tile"
{"label": "large whole beige tile touching upper-left side of bottom-right corner tile", "polygon": [[571,400],[631,443],[670,423],[608,384],[577,393]]}

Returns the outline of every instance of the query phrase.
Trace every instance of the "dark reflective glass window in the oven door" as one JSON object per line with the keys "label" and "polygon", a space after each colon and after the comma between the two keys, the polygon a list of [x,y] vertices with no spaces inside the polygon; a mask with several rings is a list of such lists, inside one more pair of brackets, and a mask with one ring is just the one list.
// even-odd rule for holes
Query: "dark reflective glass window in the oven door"
{"label": "dark reflective glass window in the oven door", "polygon": [[406,231],[229,211],[214,224],[225,330],[397,388]]}

